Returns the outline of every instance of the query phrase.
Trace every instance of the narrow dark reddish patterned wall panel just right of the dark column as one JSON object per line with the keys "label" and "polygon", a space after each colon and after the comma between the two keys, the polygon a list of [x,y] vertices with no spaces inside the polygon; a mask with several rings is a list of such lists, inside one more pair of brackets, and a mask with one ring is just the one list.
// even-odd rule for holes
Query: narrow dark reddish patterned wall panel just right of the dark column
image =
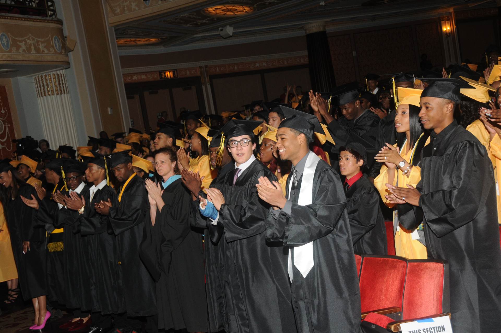
{"label": "narrow dark reddish patterned wall panel just right of the dark column", "polygon": [[341,85],[355,80],[355,63],[350,35],[328,38],[336,84]]}

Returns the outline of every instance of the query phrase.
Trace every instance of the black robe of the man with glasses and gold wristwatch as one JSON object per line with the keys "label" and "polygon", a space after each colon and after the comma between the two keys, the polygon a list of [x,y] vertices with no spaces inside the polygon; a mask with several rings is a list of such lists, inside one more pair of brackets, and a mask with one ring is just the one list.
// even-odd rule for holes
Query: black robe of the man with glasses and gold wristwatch
{"label": "black robe of the man with glasses and gold wristwatch", "polygon": [[[79,196],[84,197],[85,202],[88,203],[90,201],[89,187],[85,186]],[[63,233],[65,247],[63,251],[65,305],[69,309],[90,311],[92,309],[92,296],[89,282],[90,265],[86,260],[87,247],[78,230],[74,230],[74,226],[79,219],[80,214],[78,211],[63,207],[55,214],[54,226],[56,228],[65,228]]]}

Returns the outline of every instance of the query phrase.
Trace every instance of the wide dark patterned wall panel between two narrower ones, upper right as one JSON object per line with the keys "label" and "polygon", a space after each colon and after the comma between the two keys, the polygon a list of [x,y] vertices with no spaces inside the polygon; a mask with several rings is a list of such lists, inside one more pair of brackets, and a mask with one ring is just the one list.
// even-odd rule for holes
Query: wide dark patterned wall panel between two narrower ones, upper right
{"label": "wide dark patterned wall panel between two narrower ones, upper right", "polygon": [[399,27],[353,34],[359,82],[367,73],[392,74],[417,70],[412,27]]}

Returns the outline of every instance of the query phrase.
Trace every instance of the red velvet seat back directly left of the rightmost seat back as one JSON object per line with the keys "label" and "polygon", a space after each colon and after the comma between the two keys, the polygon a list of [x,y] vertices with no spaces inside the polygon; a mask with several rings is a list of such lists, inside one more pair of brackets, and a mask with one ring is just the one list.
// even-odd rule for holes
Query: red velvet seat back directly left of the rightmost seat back
{"label": "red velvet seat back directly left of the rightmost seat back", "polygon": [[[407,260],[397,256],[364,255],[360,272],[362,313],[402,307]],[[391,313],[391,312],[389,312]]]}

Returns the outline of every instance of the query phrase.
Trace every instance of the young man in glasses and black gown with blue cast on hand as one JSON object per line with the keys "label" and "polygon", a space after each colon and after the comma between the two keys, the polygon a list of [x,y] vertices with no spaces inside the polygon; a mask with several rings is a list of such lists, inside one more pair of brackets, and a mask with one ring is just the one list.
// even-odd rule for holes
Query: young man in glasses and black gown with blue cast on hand
{"label": "young man in glasses and black gown with blue cast on hand", "polygon": [[[254,155],[259,121],[230,121],[221,128],[226,137],[232,169],[217,177],[200,199],[198,210],[207,217],[211,241],[217,244],[220,265],[207,269],[208,281],[217,279],[217,293],[208,294],[209,304],[218,304],[227,332],[296,332],[287,279],[287,256],[266,242],[269,205],[258,197],[260,177],[276,180]],[[200,197],[201,198],[201,197]],[[264,310],[266,309],[266,310]]]}

